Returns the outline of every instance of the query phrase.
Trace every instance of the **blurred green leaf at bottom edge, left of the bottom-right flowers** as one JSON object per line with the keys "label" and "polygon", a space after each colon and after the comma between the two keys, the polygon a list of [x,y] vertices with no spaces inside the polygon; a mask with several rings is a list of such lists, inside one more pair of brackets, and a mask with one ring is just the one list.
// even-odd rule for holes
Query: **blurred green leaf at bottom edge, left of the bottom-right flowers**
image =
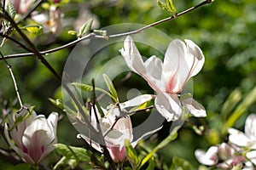
{"label": "blurred green leaf at bottom edge, left of the bottom-right flowers", "polygon": [[194,169],[189,161],[184,160],[183,158],[174,156],[172,159],[172,167],[170,170],[192,170]]}

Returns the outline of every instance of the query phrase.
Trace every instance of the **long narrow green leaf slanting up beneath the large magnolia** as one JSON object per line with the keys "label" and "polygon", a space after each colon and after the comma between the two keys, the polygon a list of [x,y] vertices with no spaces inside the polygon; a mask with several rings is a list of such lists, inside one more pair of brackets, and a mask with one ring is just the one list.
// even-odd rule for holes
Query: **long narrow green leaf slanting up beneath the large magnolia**
{"label": "long narrow green leaf slanting up beneath the large magnolia", "polygon": [[166,139],[162,140],[160,142],[160,144],[158,144],[156,147],[154,147],[154,150],[152,150],[151,152],[148,153],[147,156],[145,156],[143,158],[143,161],[141,163],[140,167],[143,167],[143,165],[154,155],[154,153],[157,150],[160,150],[161,148],[163,148],[164,146],[166,146],[167,144],[169,144],[170,142],[172,142],[172,140],[177,138],[177,130],[181,127],[181,125],[174,127],[172,132],[166,137]]}

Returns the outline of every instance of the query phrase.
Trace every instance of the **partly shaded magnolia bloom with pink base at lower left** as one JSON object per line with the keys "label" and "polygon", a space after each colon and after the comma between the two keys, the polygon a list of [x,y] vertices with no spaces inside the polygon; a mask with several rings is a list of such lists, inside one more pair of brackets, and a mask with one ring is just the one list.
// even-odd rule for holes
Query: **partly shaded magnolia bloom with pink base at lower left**
{"label": "partly shaded magnolia bloom with pink base at lower left", "polygon": [[[55,149],[58,114],[53,112],[46,119],[44,115],[37,116],[35,112],[32,112],[24,121],[15,126],[20,117],[27,116],[27,114],[25,110],[19,114],[13,114],[9,120],[9,126],[5,124],[4,134],[9,145],[27,163],[36,164]],[[8,133],[9,128],[11,130]]]}

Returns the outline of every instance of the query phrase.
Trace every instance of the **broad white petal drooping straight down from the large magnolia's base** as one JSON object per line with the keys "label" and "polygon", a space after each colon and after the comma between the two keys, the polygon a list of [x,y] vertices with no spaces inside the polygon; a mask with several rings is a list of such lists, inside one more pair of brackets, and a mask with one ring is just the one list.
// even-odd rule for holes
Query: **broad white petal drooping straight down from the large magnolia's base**
{"label": "broad white petal drooping straight down from the large magnolia's base", "polygon": [[168,122],[177,121],[182,114],[181,103],[177,94],[157,94],[154,105],[157,111],[159,111]]}

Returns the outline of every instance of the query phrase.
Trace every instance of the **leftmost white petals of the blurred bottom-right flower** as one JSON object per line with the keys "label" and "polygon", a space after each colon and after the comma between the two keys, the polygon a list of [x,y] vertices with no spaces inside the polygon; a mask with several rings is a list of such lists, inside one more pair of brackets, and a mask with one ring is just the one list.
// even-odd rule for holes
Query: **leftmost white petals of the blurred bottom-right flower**
{"label": "leftmost white petals of the blurred bottom-right flower", "polygon": [[195,150],[195,157],[203,165],[216,165],[218,162],[218,147],[212,146],[207,150],[207,152],[203,150]]}

